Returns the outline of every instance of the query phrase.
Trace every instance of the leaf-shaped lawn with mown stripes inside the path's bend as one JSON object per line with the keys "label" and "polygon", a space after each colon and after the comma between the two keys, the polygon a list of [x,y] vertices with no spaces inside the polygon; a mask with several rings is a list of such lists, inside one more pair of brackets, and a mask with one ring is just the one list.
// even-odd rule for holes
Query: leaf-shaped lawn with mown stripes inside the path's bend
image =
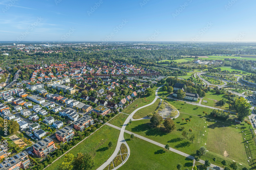
{"label": "leaf-shaped lawn with mown stripes inside the path's bend", "polygon": [[154,112],[158,108],[159,104],[160,104],[160,99],[157,99],[154,104],[138,110],[133,115],[133,119],[140,119],[140,118],[143,118],[143,117],[147,116],[148,114]]}

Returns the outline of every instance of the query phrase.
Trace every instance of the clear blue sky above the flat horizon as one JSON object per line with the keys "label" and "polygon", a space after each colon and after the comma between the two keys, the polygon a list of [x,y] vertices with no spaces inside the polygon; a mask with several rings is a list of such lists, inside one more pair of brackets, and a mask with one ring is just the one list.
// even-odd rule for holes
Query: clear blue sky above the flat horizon
{"label": "clear blue sky above the flat horizon", "polygon": [[255,7],[255,0],[0,0],[0,41],[255,42]]}

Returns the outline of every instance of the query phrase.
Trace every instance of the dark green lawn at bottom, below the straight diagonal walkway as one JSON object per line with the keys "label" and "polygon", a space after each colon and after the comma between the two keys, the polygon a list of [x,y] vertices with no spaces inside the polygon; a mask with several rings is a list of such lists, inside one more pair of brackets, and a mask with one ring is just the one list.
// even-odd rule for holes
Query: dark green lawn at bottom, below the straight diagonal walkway
{"label": "dark green lawn at bottom, below the straight diagonal walkway", "polygon": [[[134,137],[130,140],[130,134],[124,133],[124,138],[130,147],[131,155],[119,169],[177,169],[176,165],[181,163],[182,169],[193,166],[193,161],[182,155],[154,145],[145,140]],[[128,140],[127,140],[128,139]]]}

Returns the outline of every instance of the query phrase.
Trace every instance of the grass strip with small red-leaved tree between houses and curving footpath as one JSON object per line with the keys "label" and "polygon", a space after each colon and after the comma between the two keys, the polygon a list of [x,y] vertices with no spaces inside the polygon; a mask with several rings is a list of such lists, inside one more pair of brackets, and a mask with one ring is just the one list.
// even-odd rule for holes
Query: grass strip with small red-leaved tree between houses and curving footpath
{"label": "grass strip with small red-leaved tree between houses and curving footpath", "polygon": [[[145,97],[145,99],[144,99]],[[151,96],[142,96],[141,98],[138,98],[136,101],[134,101],[132,104],[130,104],[129,106],[127,106],[122,112],[123,113],[127,113],[127,114],[131,114],[135,109],[145,106],[147,104],[150,104],[154,99],[155,99],[155,93]],[[149,100],[149,101],[148,101]],[[138,105],[138,106],[136,106]]]}

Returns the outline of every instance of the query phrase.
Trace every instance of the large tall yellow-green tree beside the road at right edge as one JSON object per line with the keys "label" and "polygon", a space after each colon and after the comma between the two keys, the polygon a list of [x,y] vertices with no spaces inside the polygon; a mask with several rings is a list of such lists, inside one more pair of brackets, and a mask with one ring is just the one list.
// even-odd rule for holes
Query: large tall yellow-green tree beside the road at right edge
{"label": "large tall yellow-green tree beside the road at right edge", "polygon": [[238,118],[243,121],[245,117],[251,115],[251,104],[243,97],[239,97],[235,101],[235,107],[238,110]]}

